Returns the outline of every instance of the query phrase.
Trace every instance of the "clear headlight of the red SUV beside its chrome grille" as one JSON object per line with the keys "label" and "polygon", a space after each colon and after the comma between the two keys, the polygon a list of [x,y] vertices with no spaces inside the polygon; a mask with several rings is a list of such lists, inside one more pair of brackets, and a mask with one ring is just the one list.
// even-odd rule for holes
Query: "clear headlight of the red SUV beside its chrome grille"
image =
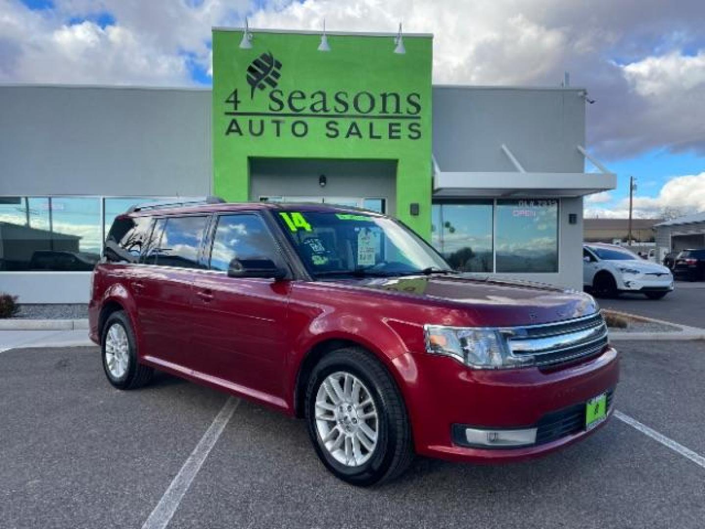
{"label": "clear headlight of the red SUV beside its chrome grille", "polygon": [[517,358],[509,351],[505,336],[497,329],[472,329],[426,325],[426,350],[450,356],[475,369],[506,369],[531,365],[532,357]]}

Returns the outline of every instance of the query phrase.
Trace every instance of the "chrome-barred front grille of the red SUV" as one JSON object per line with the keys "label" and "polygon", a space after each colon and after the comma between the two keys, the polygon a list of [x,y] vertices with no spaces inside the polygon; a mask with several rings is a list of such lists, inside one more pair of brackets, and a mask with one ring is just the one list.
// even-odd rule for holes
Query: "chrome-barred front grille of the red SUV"
{"label": "chrome-barred front grille of the red SUV", "polygon": [[607,326],[599,312],[568,322],[513,329],[508,335],[511,353],[532,356],[539,366],[596,355],[607,343]]}

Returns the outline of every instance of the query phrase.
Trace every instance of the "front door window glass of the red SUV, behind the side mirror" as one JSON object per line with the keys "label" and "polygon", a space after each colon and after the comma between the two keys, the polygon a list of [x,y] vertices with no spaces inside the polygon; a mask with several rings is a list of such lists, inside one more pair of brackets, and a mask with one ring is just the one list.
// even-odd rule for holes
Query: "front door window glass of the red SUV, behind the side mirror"
{"label": "front door window glass of the red SUV, behind the side mirror", "polygon": [[227,271],[233,259],[271,259],[276,262],[276,245],[264,221],[257,215],[223,215],[213,238],[211,268]]}

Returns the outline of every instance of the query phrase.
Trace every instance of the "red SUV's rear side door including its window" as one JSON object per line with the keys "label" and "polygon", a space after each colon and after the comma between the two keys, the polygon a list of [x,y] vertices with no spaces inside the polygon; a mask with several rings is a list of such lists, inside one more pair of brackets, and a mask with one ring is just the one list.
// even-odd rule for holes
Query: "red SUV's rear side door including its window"
{"label": "red SUV's rear side door including its window", "polygon": [[157,219],[133,282],[143,350],[149,360],[188,372],[194,272],[201,255],[208,215]]}

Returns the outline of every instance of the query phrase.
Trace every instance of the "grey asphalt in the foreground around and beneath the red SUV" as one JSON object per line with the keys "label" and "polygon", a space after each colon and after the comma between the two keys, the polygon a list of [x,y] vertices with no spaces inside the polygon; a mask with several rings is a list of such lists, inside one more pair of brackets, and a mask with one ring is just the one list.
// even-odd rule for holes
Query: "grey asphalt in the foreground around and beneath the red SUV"
{"label": "grey asphalt in the foreground around and beneath the red SUV", "polygon": [[[541,460],[419,458],[400,480],[360,490],[324,470],[302,421],[230,401],[232,416],[188,490],[166,495],[168,527],[702,528],[705,343],[670,344],[617,343],[615,406],[695,460],[613,418]],[[0,355],[2,528],[142,527],[228,401],[166,375],[117,391],[97,348]]]}

